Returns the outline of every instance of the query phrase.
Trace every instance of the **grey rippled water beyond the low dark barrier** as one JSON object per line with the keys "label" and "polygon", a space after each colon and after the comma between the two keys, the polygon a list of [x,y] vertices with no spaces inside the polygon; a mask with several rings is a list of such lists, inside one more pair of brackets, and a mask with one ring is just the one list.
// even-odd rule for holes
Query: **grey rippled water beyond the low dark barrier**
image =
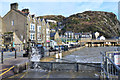
{"label": "grey rippled water beyond the low dark barrier", "polygon": [[100,63],[102,59],[101,51],[116,51],[117,48],[118,47],[85,47],[63,57],[62,61]]}

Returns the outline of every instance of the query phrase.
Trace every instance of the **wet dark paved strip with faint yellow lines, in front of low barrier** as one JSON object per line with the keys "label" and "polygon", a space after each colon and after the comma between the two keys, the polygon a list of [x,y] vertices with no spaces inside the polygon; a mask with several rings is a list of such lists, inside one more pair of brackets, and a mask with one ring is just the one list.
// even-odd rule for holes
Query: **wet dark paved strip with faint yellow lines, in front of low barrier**
{"label": "wet dark paved strip with faint yellow lines, in front of low barrier", "polygon": [[[86,75],[87,74],[87,75]],[[93,80],[93,78],[96,78],[96,80],[99,80],[99,73],[98,72],[91,72],[91,71],[84,71],[84,72],[74,72],[74,71],[44,71],[44,70],[38,70],[38,69],[30,69],[30,70],[27,70],[23,73],[20,73],[20,74],[17,74],[17,75],[14,75],[14,76],[11,76],[9,78],[11,79],[45,79],[47,80],[48,78],[49,79],[65,79],[66,78],[69,78],[70,79],[82,79],[82,78],[88,78],[89,80]]]}

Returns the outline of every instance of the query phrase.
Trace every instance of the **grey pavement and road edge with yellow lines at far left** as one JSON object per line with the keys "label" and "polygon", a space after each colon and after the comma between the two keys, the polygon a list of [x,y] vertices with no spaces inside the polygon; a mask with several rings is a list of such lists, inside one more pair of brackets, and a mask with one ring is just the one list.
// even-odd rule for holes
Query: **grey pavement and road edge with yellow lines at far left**
{"label": "grey pavement and road edge with yellow lines at far left", "polygon": [[14,52],[3,53],[3,64],[0,62],[0,79],[15,75],[14,68],[16,65],[28,62],[28,58],[22,57],[23,53],[23,51],[17,52],[16,59]]}

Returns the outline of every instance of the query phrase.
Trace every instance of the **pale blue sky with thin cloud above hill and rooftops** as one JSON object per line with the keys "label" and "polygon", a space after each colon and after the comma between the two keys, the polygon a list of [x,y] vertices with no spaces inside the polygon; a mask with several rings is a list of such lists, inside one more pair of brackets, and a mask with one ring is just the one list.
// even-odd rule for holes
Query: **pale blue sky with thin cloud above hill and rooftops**
{"label": "pale blue sky with thin cloud above hill and rooftops", "polygon": [[5,0],[0,1],[0,16],[4,16],[10,10],[10,4],[17,2],[18,9],[29,8],[30,14],[63,15],[68,17],[72,14],[84,11],[113,12],[118,16],[118,0]]}

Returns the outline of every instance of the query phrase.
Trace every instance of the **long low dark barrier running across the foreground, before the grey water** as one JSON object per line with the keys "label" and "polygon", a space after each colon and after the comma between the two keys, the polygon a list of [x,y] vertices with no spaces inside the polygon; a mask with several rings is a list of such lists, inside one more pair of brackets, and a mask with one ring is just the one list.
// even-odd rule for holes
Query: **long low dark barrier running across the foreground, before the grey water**
{"label": "long low dark barrier running across the foreground, before the grey water", "polygon": [[100,63],[32,62],[31,68],[36,64],[44,70],[51,71],[100,71]]}

